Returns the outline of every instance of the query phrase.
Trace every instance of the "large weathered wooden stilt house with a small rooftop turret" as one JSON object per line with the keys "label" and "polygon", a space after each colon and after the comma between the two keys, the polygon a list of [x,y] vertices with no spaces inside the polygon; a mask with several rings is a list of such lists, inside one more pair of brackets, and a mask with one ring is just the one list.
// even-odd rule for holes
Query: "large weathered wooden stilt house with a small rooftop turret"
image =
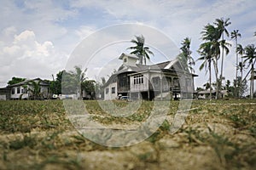
{"label": "large weathered wooden stilt house with a small rooftop turret", "polygon": [[104,99],[119,99],[128,96],[131,99],[193,98],[195,92],[194,77],[197,75],[185,71],[178,59],[156,65],[139,65],[137,56],[121,54],[123,64],[109,77],[104,85]]}

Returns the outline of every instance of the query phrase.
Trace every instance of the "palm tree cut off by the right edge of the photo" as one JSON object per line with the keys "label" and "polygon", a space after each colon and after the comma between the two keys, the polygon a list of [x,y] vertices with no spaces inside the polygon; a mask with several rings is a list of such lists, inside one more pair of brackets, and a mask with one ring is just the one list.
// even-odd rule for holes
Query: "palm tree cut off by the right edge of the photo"
{"label": "palm tree cut off by the right edge of the photo", "polygon": [[254,73],[254,67],[253,65],[255,64],[256,62],[256,47],[254,47],[254,44],[250,44],[250,45],[247,45],[245,49],[245,55],[243,56],[243,58],[245,58],[244,62],[247,62],[248,61],[248,66],[251,65],[251,69],[250,69],[250,72],[251,72],[251,84],[250,84],[250,96],[251,96],[251,99],[253,99],[253,73]]}

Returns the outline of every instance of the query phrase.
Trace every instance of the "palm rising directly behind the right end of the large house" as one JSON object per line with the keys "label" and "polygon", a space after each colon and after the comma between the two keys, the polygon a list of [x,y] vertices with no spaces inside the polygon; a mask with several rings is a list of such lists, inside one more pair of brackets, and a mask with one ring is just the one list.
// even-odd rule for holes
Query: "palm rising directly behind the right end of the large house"
{"label": "palm rising directly behind the right end of the large house", "polygon": [[192,51],[190,50],[190,43],[191,39],[189,39],[189,37],[184,38],[183,42],[181,43],[182,47],[180,48],[182,53],[177,55],[177,59],[181,62],[183,68],[189,70],[192,73],[195,72],[193,69],[195,60],[191,56]]}

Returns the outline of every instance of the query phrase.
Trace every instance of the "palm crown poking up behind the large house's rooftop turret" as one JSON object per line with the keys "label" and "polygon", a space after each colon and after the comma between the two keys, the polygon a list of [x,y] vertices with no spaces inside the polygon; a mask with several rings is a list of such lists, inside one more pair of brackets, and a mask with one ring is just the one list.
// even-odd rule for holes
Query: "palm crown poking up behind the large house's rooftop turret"
{"label": "palm crown poking up behind the large house's rooftop turret", "polygon": [[130,47],[130,48],[127,48],[127,49],[134,50],[130,54],[136,54],[137,57],[139,58],[139,63],[141,65],[143,65],[143,60],[144,60],[144,64],[146,65],[146,60],[150,59],[148,54],[152,54],[152,55],[154,55],[154,54],[153,54],[152,51],[149,50],[148,47],[144,46],[145,45],[145,38],[143,37],[143,35],[135,36],[135,37],[136,37],[136,40],[132,39],[131,42],[135,43],[136,46]]}

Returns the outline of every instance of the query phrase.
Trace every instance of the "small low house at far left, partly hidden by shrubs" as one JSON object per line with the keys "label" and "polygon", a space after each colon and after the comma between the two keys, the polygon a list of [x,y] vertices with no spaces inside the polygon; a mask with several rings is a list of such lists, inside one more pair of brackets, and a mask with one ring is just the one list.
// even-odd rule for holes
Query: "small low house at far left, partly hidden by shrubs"
{"label": "small low house at far left, partly hidden by shrubs", "polygon": [[34,87],[32,86],[32,82],[37,83],[39,86],[40,99],[50,98],[49,82],[40,78],[35,78],[7,86],[10,94],[9,99],[33,99],[34,96],[32,91]]}

